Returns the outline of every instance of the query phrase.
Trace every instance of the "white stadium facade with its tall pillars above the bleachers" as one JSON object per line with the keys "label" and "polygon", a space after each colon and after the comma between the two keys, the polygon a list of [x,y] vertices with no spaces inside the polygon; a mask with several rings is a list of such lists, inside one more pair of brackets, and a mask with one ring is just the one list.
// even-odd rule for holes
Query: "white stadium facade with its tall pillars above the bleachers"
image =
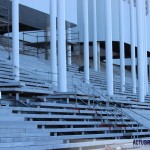
{"label": "white stadium facade with its tall pillars above the bleachers", "polygon": [[[117,44],[120,45],[120,48],[116,48],[115,51],[118,50],[117,53],[120,53],[120,57],[118,60],[116,60],[116,63],[120,65],[120,83],[121,83],[121,91],[125,91],[125,57],[131,58],[130,61],[130,66],[132,66],[132,91],[133,94],[136,93],[136,76],[139,74],[138,78],[138,88],[139,88],[139,101],[144,102],[144,96],[148,92],[148,65],[147,60],[148,57],[147,51],[150,47],[149,42],[147,41],[148,38],[148,24],[149,24],[149,1],[143,1],[141,2],[142,5],[140,5],[140,10],[141,12],[138,11],[138,2],[136,4],[136,1],[118,1],[114,0],[113,2],[108,2],[109,4],[106,3],[107,1],[89,1],[89,2],[82,2],[82,1],[66,1],[66,2],[61,2],[65,5],[64,8],[65,10],[63,12],[64,16],[62,20],[65,20],[68,22],[68,24],[65,24],[65,27],[62,27],[64,22],[61,22],[62,20],[59,20],[59,11],[61,11],[61,8],[59,8],[59,3],[58,4],[51,4],[54,6],[49,6],[48,3],[49,1],[39,1],[39,2],[26,2],[21,0],[19,3],[21,7],[28,7],[29,9],[35,9],[37,11],[41,11],[41,13],[46,13],[47,15],[52,13],[52,18],[50,18],[51,21],[48,21],[49,18],[48,16],[45,17],[45,20],[41,21],[41,18],[36,15],[36,21],[34,15],[31,15],[30,18],[32,21],[29,21],[28,18],[26,18],[24,15],[27,13],[27,8],[22,12],[21,14],[21,19],[23,23],[25,23],[28,26],[32,26],[35,28],[39,29],[46,29],[49,28],[51,32],[51,38],[54,37],[54,39],[51,39],[53,42],[56,41],[56,32],[58,33],[58,59],[56,58],[56,44],[53,45],[53,42],[51,42],[51,64],[52,64],[52,81],[54,80],[55,84],[58,82],[58,87],[59,91],[61,92],[66,92],[67,91],[67,78],[66,78],[66,73],[64,70],[66,70],[66,45],[61,45],[62,41],[63,44],[65,43],[65,40],[62,40],[62,38],[65,38],[65,33],[66,30],[69,28],[72,28],[74,26],[77,26],[77,31],[79,31],[79,40],[80,44],[84,43],[84,50],[83,47],[81,46],[81,51],[84,51],[84,69],[85,69],[85,77],[84,80],[88,84],[89,81],[89,57],[93,57],[93,68],[97,71],[98,69],[98,51],[97,48],[100,47],[100,42],[105,43],[106,42],[106,47],[103,46],[102,49],[103,51],[106,52],[106,77],[107,77],[107,95],[113,96],[113,53],[111,49],[111,42],[116,42]],[[17,3],[15,1],[15,3]],[[55,3],[55,2],[54,2]],[[85,3],[85,4],[84,4]],[[88,4],[87,4],[88,3]],[[14,4],[14,9],[17,4]],[[109,11],[107,12],[107,5],[109,6]],[[12,5],[13,6],[13,5]],[[49,7],[53,9],[52,11],[49,11]],[[54,8],[55,7],[55,8]],[[63,6],[61,6],[63,7]],[[105,8],[106,7],[106,8]],[[142,8],[141,8],[142,7]],[[12,7],[13,8],[13,7]],[[110,10],[111,8],[111,10]],[[15,9],[17,11],[18,9]],[[19,10],[18,10],[19,11]],[[23,11],[20,8],[20,11]],[[13,12],[13,11],[12,11]],[[29,13],[29,14],[28,14]],[[30,15],[30,12],[27,14]],[[109,13],[109,14],[107,14]],[[138,14],[140,13],[140,14]],[[142,13],[142,14],[141,14]],[[14,35],[16,34],[16,30],[18,30],[17,20],[19,12],[15,12],[13,17],[16,17],[15,19],[12,19],[14,21]],[[54,15],[54,16],[53,16]],[[60,12],[60,15],[62,13]],[[108,16],[107,16],[108,15]],[[140,16],[142,15],[142,16]],[[138,18],[138,17],[141,18]],[[56,19],[54,20],[54,17],[58,17],[58,30],[54,31],[56,29]],[[26,19],[25,19],[26,18]],[[107,20],[107,18],[109,20]],[[138,20],[140,19],[140,20]],[[28,21],[26,21],[28,20]],[[44,21],[44,22],[43,22]],[[108,22],[107,22],[108,21]],[[139,21],[139,22],[138,22]],[[55,22],[55,24],[54,24]],[[60,29],[59,29],[59,22],[60,22]],[[138,25],[138,23],[142,23],[141,25]],[[52,24],[52,26],[50,25]],[[107,25],[109,24],[109,26]],[[107,33],[107,30],[108,31]],[[142,30],[142,31],[141,31]],[[63,35],[59,34],[59,31],[63,31]],[[19,33],[18,33],[19,34]],[[107,35],[108,34],[108,35]],[[143,38],[141,37],[141,34],[144,36]],[[60,35],[60,37],[59,37]],[[62,37],[61,37],[62,36]],[[65,36],[65,37],[64,37]],[[17,39],[14,39],[14,43],[17,43],[18,36],[15,35]],[[108,41],[107,41],[108,38]],[[142,39],[139,39],[142,38]],[[59,42],[61,41],[61,42]],[[138,43],[139,41],[139,43]],[[56,43],[56,42],[54,42]],[[93,54],[91,53],[91,56],[89,56],[89,43],[93,43]],[[143,44],[142,44],[143,43]],[[111,44],[111,45],[110,45]],[[114,45],[117,45],[114,44]],[[17,46],[17,44],[14,44]],[[61,46],[60,46],[61,45]],[[103,44],[104,45],[104,44]],[[125,45],[128,45],[125,47]],[[145,45],[145,47],[144,47]],[[132,47],[132,49],[129,48],[129,46]],[[19,46],[17,46],[19,47]],[[108,50],[106,50],[108,48]],[[137,50],[137,59],[135,56],[135,48],[140,47],[141,50]],[[54,51],[53,52],[53,49]],[[14,49],[19,49],[14,47]],[[120,52],[119,52],[120,51]],[[126,52],[128,51],[128,52]],[[145,53],[143,52],[145,51]],[[60,53],[59,53],[60,52]],[[16,52],[17,53],[17,52]],[[71,52],[69,52],[71,55]],[[100,52],[99,52],[100,53]],[[104,52],[103,52],[104,53]],[[111,54],[112,53],[112,54]],[[131,53],[131,54],[127,54]],[[128,56],[125,56],[125,55]],[[63,57],[62,57],[63,56]],[[14,55],[15,57],[15,55]],[[59,58],[60,57],[60,58]],[[101,57],[101,55],[99,56]],[[70,57],[71,58],[71,57]],[[17,66],[19,68],[19,60],[14,61],[14,66]],[[56,65],[56,60],[58,60],[58,81],[57,81],[57,65]],[[136,60],[138,61],[137,63],[137,70],[138,73],[136,73]],[[127,61],[129,61],[127,59]],[[17,63],[17,64],[16,64]],[[100,63],[100,62],[99,62]],[[100,66],[100,65],[99,65]],[[54,68],[53,68],[54,67]],[[59,69],[60,68],[60,69]],[[62,69],[63,68],[63,69]],[[100,67],[99,67],[100,68]],[[145,69],[144,69],[145,68]],[[145,73],[144,73],[145,72]],[[17,78],[19,77],[19,72],[17,72]],[[143,74],[144,73],[144,74]],[[16,79],[16,80],[19,80]],[[146,87],[145,87],[146,86]]]}

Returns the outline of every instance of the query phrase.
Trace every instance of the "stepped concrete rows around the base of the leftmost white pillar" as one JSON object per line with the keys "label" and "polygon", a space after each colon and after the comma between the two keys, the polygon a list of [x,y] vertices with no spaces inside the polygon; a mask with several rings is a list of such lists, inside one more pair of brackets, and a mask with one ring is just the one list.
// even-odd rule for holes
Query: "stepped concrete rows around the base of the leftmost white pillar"
{"label": "stepped concrete rows around the base of the leftmost white pillar", "polygon": [[40,74],[24,69],[20,69],[20,82],[15,82],[13,66],[4,62],[0,63],[0,91],[50,94],[52,86],[50,81],[42,79]]}

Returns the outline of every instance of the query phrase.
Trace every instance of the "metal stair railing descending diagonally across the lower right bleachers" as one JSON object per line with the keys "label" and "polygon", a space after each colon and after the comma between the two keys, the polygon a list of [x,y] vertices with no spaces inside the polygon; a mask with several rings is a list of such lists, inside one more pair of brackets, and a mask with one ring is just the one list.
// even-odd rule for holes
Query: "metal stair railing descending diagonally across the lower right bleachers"
{"label": "metal stair railing descending diagonally across the lower right bleachers", "polygon": [[[128,115],[125,111],[123,111],[122,106],[120,108],[120,106],[119,106],[119,104],[117,102],[114,102],[113,100],[111,100],[111,98],[108,98],[108,97],[102,95],[100,92],[96,91],[93,87],[92,87],[93,92],[97,92],[100,95],[100,97],[105,98],[105,100],[103,101],[103,103],[105,103],[105,105],[102,103],[102,100],[100,98],[97,100],[97,97],[95,97],[94,94],[93,95],[88,95],[87,93],[85,93],[83,90],[81,90],[77,86],[75,86],[75,89],[76,89],[76,93],[77,93],[77,90],[79,90],[83,94],[88,96],[89,97],[89,101],[93,101],[93,106],[95,105],[96,108],[92,107],[91,105],[86,103],[84,100],[81,100],[82,102],[84,102],[90,108],[92,107],[93,110],[95,110],[96,112],[98,111],[97,109],[101,110],[101,108],[98,107],[98,106],[101,106],[101,107],[105,108],[105,110],[108,112],[107,116],[113,117],[115,122],[116,122],[116,124],[113,123],[113,126],[118,127],[117,126],[117,122],[121,121],[122,122],[122,126],[130,127],[133,131],[136,131],[137,132],[136,137],[138,138],[138,136],[139,136],[139,127],[143,126],[143,125],[141,123],[139,123],[137,120],[135,120],[134,118],[132,118],[130,115]],[[100,102],[100,100],[101,100],[101,102]],[[108,106],[106,106],[106,105],[108,105]],[[109,107],[110,105],[111,105],[111,109]],[[119,114],[117,114],[117,112]],[[100,116],[102,116],[102,114],[100,114]],[[110,121],[111,119],[110,120],[108,118],[105,118],[105,119],[106,119],[107,122],[111,123],[111,121]],[[126,121],[126,120],[129,120],[129,122],[134,122],[136,124],[136,129],[133,128],[133,125],[128,123],[128,121]],[[145,127],[145,128],[147,130],[150,130],[147,127]]]}

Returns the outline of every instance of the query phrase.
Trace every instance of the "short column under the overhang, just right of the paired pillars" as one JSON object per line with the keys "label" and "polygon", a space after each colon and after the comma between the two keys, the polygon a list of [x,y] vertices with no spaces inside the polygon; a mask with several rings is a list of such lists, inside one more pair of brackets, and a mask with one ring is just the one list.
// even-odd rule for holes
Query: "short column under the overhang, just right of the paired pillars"
{"label": "short column under the overhang, just right of the paired pillars", "polygon": [[71,45],[69,43],[71,43],[71,30],[67,29],[67,64],[71,65]]}

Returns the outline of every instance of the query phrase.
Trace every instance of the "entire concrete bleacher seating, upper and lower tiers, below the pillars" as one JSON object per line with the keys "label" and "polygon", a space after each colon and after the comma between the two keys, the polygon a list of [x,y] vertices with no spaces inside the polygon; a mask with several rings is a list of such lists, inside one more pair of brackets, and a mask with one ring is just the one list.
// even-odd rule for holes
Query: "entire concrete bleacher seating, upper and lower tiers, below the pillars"
{"label": "entire concrete bleacher seating, upper and lower tiers, below the pillars", "polygon": [[[56,93],[51,84],[49,61],[20,54],[17,83],[13,80],[12,59],[7,59],[8,52],[1,51],[0,149],[97,149],[97,146],[104,149],[103,139],[150,137],[148,119],[135,117],[135,113],[148,117],[150,105],[130,101],[137,99],[137,95],[131,94],[129,83],[126,92],[121,93],[118,74],[114,77],[118,95],[110,99],[106,96],[103,69],[101,73],[90,69],[91,84],[87,86],[84,72],[79,73],[79,66],[73,64],[67,67],[68,92]],[[5,95],[13,92],[20,93],[19,100]],[[146,114],[141,112],[143,109]]]}

